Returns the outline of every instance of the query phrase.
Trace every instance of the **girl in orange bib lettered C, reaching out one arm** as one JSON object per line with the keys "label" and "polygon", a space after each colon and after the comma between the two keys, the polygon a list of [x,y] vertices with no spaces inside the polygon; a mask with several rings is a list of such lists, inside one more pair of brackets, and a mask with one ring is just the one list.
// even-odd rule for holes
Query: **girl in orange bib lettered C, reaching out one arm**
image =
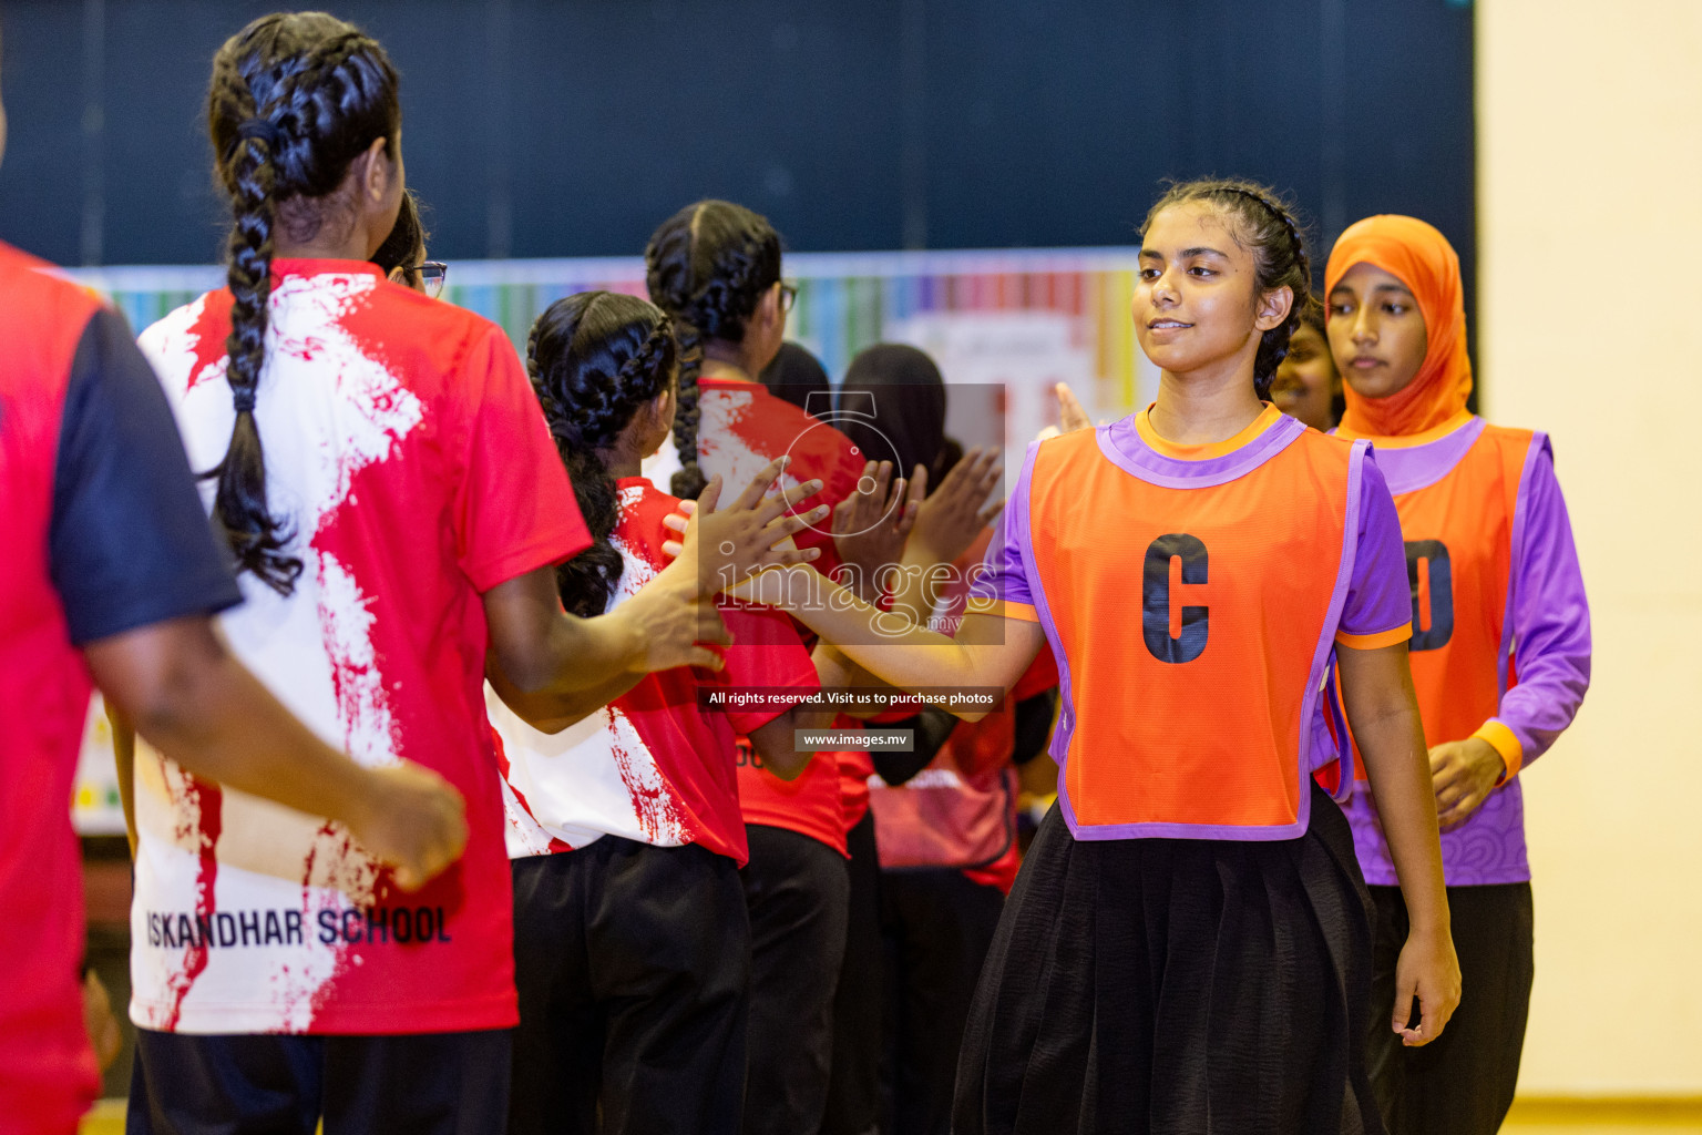
{"label": "girl in orange bib lettered C, reaching out one arm", "polygon": [[982,970],[960,1133],[1382,1130],[1368,900],[1314,781],[1341,756],[1333,664],[1413,910],[1374,1011],[1421,1045],[1459,1001],[1394,502],[1367,442],[1263,402],[1307,279],[1258,185],[1154,206],[1134,317],[1159,398],[1028,449],[955,640],[815,572],[752,584],[909,689],[1009,691],[1057,659],[1059,803]]}

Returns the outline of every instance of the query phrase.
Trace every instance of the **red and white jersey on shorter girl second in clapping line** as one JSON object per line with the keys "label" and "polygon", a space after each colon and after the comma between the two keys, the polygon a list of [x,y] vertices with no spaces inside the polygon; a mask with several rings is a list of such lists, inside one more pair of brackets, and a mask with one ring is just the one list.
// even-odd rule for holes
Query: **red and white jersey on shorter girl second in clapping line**
{"label": "red and white jersey on shorter girl second in clapping line", "polygon": [[[642,476],[618,483],[620,521],[609,541],[621,579],[606,611],[638,594],[667,567],[662,519],[679,500]],[[734,645],[718,674],[681,667],[650,674],[611,704],[560,733],[540,733],[485,687],[502,740],[502,800],[511,858],[584,847],[603,836],[679,847],[701,844],[742,866],[749,858],[739,812],[735,730],[749,733],[783,713],[700,708],[700,686],[820,689],[791,619],[780,611],[725,607]]]}

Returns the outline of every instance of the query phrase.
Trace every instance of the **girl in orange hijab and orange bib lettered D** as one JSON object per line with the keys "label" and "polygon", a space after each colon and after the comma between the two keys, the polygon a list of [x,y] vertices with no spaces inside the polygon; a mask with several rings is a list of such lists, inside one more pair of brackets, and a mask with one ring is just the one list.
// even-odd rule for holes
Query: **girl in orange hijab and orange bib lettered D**
{"label": "girl in orange hijab and orange bib lettered D", "polygon": [[[1447,238],[1409,216],[1367,218],[1336,242],[1324,291],[1346,383],[1339,434],[1374,441],[1401,514],[1413,684],[1465,989],[1448,1031],[1426,1048],[1372,1029],[1372,1084],[1392,1135],[1489,1135],[1513,1101],[1530,1007],[1518,773],[1571,723],[1590,686],[1590,609],[1547,434],[1465,408],[1465,301]],[[1372,994],[1385,999],[1406,907],[1363,783],[1348,820],[1377,904]]]}

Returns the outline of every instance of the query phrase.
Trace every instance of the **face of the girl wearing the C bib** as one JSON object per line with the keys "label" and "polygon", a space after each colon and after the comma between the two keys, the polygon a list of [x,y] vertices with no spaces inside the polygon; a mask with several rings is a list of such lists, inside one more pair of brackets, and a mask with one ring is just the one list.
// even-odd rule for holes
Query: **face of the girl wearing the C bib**
{"label": "face of the girl wearing the C bib", "polygon": [[1135,339],[1162,371],[1186,374],[1236,364],[1241,356],[1251,361],[1259,337],[1288,318],[1288,289],[1258,294],[1253,252],[1232,225],[1205,201],[1171,206],[1147,225]]}

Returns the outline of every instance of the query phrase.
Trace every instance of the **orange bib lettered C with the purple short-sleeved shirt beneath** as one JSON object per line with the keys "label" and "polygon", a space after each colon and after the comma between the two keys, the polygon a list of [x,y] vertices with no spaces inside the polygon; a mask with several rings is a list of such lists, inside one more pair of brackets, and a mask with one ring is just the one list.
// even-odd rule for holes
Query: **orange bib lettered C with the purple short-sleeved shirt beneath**
{"label": "orange bib lettered C with the purple short-sleeved shirt beneath", "polygon": [[[979,606],[1031,604],[1052,640],[1079,839],[1305,830],[1338,633],[1384,645],[1409,621],[1367,453],[1273,408],[1220,446],[1168,446],[1142,414],[1030,451]],[[1026,587],[1001,587],[1001,555]]]}

